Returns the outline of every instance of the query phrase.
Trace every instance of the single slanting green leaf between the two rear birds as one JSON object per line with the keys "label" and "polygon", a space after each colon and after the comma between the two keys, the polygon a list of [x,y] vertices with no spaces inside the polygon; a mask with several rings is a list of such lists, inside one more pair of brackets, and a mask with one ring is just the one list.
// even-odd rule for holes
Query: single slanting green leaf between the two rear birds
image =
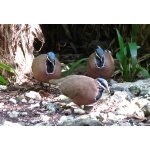
{"label": "single slanting green leaf between the two rear birds", "polygon": [[80,59],[80,60],[78,60],[76,62],[73,62],[71,64],[71,67],[69,68],[69,70],[63,72],[63,77],[66,77],[66,76],[72,74],[74,69],[77,68],[79,65],[81,65],[81,63],[83,63],[84,61],[87,61],[87,59],[88,58],[82,58],[82,59]]}

